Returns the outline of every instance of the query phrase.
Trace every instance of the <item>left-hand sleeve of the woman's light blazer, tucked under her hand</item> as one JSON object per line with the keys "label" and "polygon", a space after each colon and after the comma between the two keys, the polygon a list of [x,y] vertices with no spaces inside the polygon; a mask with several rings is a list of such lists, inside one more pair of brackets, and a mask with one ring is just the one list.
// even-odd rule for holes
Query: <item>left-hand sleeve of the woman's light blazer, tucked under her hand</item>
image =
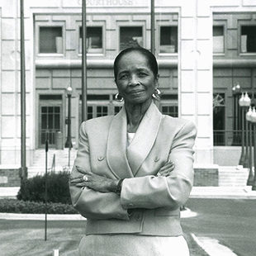
{"label": "left-hand sleeve of the woman's light blazer, tucked under her hand", "polygon": [[[74,161],[71,178],[81,175],[76,166],[91,171],[88,135],[84,122],[80,126],[78,154]],[[73,207],[84,217],[129,220],[127,211],[121,206],[120,197],[114,192],[96,192],[88,187],[76,187],[71,183],[69,183],[69,191]]]}

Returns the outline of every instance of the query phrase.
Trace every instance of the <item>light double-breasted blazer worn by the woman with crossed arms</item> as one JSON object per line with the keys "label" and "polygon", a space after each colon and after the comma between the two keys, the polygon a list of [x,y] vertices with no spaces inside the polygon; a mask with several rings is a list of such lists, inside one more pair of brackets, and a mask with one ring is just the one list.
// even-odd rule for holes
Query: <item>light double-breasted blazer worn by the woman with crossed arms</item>
{"label": "light double-breasted blazer worn by the woman with crossed arms", "polygon": [[[125,178],[121,196],[70,185],[73,206],[88,218],[86,233],[182,235],[179,207],[192,189],[196,128],[191,121],[162,115],[152,103],[127,148],[125,107],[116,116],[82,123],[75,166],[108,178]],[[169,177],[156,177],[168,160]],[[128,214],[128,211],[129,213]]]}

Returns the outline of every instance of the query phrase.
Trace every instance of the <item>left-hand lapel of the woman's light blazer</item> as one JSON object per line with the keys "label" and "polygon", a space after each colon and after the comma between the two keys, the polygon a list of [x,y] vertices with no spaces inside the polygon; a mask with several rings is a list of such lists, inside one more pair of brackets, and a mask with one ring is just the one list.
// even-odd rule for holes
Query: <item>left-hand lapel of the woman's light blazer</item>
{"label": "left-hand lapel of the woman's light blazer", "polygon": [[116,178],[132,178],[126,157],[127,118],[126,109],[113,117],[107,139],[107,164]]}

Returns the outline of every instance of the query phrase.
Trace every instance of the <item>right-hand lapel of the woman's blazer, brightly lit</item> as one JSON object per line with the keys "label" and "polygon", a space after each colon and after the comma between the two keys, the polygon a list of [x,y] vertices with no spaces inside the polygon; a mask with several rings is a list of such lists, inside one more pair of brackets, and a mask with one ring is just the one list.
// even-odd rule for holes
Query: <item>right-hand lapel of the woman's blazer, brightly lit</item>
{"label": "right-hand lapel of the woman's blazer, brightly lit", "polygon": [[141,164],[154,145],[158,135],[162,114],[152,102],[145,116],[140,122],[140,126],[135,133],[135,137],[127,148],[127,159],[132,173],[138,173]]}

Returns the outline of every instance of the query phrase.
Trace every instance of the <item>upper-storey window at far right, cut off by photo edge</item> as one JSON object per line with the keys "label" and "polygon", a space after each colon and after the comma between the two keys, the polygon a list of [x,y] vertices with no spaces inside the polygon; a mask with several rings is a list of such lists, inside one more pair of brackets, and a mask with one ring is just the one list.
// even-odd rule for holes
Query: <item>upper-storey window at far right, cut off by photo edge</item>
{"label": "upper-storey window at far right, cut off by photo edge", "polygon": [[241,53],[256,53],[256,26],[241,26]]}

